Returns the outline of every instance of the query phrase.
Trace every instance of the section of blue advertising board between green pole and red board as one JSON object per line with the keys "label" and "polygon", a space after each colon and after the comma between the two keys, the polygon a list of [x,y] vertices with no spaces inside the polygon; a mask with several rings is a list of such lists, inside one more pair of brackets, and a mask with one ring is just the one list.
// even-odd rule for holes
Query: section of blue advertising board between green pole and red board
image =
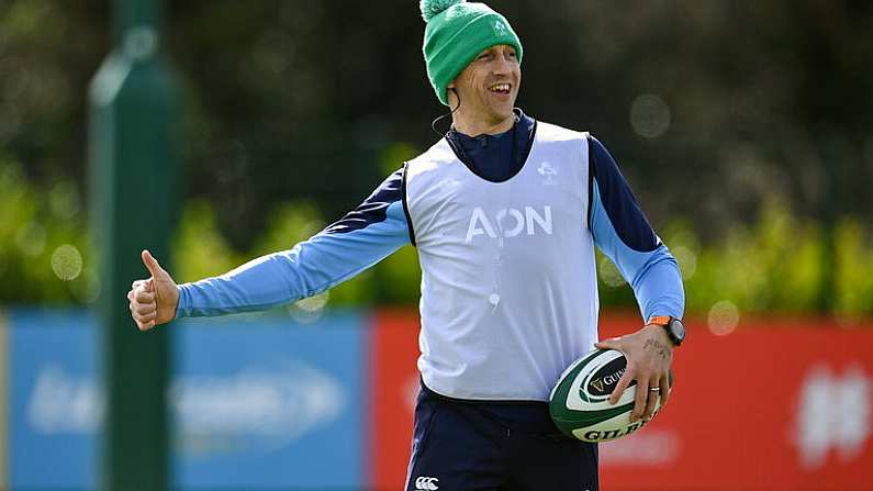
{"label": "section of blue advertising board between green pole and red board", "polygon": [[182,489],[360,489],[367,380],[358,315],[192,320],[174,339]]}

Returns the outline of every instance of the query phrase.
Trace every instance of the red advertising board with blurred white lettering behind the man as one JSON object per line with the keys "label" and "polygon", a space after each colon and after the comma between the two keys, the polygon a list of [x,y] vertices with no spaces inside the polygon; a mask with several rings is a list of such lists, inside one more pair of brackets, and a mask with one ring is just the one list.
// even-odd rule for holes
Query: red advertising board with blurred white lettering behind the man
{"label": "red advertising board with blurred white lettering behind the man", "polygon": [[[601,337],[631,332],[638,319],[607,315]],[[374,489],[405,478],[417,322],[414,312],[383,312],[373,330]],[[873,489],[873,326],[761,319],[716,335],[689,324],[664,411],[601,444],[602,489]]]}

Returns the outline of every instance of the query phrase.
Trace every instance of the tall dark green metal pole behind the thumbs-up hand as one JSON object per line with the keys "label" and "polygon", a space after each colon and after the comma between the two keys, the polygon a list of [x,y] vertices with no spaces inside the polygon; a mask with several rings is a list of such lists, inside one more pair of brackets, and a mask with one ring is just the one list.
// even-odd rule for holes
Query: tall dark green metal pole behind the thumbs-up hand
{"label": "tall dark green metal pole behind the thumbs-up hand", "polygon": [[91,230],[101,253],[105,422],[101,488],[169,488],[166,328],[139,333],[125,293],[139,252],[167,263],[176,217],[175,85],[159,57],[158,0],[115,1],[115,48],[91,81]]}

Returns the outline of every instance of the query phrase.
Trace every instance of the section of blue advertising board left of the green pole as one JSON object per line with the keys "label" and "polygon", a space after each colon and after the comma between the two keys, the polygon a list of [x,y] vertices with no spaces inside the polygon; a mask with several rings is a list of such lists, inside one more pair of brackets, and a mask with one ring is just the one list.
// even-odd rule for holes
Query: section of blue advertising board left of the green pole
{"label": "section of blue advertising board left of the green pole", "polygon": [[94,489],[103,404],[86,311],[8,312],[9,487]]}

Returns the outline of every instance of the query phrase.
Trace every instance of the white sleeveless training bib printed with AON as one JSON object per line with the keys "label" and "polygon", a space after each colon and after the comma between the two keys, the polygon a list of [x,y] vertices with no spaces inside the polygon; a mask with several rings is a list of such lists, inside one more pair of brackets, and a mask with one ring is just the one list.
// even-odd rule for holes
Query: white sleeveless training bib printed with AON
{"label": "white sleeveless training bib printed with AON", "polygon": [[586,135],[538,123],[524,167],[491,182],[446,140],[407,163],[422,266],[418,369],[461,399],[548,401],[597,332]]}

